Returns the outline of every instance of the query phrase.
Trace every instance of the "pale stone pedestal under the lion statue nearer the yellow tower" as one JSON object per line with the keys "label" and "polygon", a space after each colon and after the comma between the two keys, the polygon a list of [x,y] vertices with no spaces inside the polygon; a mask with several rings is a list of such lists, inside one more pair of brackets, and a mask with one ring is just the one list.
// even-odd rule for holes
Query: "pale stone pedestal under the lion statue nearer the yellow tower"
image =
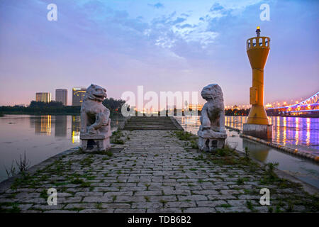
{"label": "pale stone pedestal under the lion statue nearer the yellow tower", "polygon": [[226,133],[212,130],[198,131],[198,148],[205,152],[212,152],[218,148],[223,148],[227,138]]}

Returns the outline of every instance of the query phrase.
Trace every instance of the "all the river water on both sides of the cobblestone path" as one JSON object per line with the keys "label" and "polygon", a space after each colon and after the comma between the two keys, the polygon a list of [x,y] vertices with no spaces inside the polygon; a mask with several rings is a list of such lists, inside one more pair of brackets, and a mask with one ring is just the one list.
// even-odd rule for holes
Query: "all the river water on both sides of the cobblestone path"
{"label": "all the river water on both sides of the cobblestone path", "polygon": [[[200,126],[199,116],[177,116],[176,118],[186,131],[197,133]],[[296,120],[296,118],[274,117],[271,119],[274,124],[275,143],[319,154],[318,118]],[[116,130],[120,123],[123,123],[123,118],[113,117],[112,131]],[[245,117],[226,116],[227,126],[241,128],[242,123],[245,123]],[[20,156],[24,153],[32,166],[64,150],[79,146],[79,129],[79,116],[6,115],[1,117],[0,182],[7,178],[6,169],[11,167],[14,160],[20,160]],[[236,131],[228,131],[228,143],[238,150],[245,150],[245,147],[248,147],[251,154],[262,162],[279,162],[279,169],[291,172],[319,188],[319,165],[242,139]]]}

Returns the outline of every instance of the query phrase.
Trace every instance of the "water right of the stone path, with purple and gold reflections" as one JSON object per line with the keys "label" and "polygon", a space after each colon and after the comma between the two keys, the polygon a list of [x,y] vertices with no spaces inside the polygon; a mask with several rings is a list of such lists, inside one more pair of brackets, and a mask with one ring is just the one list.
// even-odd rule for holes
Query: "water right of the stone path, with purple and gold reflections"
{"label": "water right of the stone path, with purple and gold reflections", "polygon": [[[201,125],[199,116],[177,116],[175,118],[186,131],[197,135],[198,127]],[[226,116],[225,125],[242,129],[242,123],[245,123],[245,119],[245,117],[241,116]],[[319,155],[318,120],[318,118],[272,118],[272,123],[274,124],[273,140],[275,143],[291,147],[297,146],[298,148],[303,148],[302,150]],[[247,147],[250,155],[257,160],[264,163],[278,162],[279,170],[289,172],[298,179],[319,188],[319,165],[267,145],[240,138],[237,131],[227,131],[227,143],[231,147],[242,152],[245,152],[245,148]]]}

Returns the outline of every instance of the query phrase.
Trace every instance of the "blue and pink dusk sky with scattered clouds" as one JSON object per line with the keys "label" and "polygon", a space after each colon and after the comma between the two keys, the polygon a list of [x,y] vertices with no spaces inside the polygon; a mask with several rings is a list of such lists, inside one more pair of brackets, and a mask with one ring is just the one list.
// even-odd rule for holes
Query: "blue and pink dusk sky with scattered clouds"
{"label": "blue and pink dusk sky with scattered clouds", "polygon": [[[47,5],[57,5],[48,21]],[[261,21],[261,4],[270,21]],[[265,102],[319,91],[319,1],[0,0],[0,105],[29,104],[35,92],[91,83],[125,91],[200,94],[218,83],[225,105],[249,104],[247,38],[271,38]],[[200,100],[203,103],[203,99]]]}

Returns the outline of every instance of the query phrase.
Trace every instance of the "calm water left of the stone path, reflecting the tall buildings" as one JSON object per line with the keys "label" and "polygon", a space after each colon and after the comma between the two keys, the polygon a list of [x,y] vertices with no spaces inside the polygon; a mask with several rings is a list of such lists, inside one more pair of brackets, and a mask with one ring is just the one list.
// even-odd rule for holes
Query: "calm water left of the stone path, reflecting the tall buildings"
{"label": "calm water left of the stone path, reflecting the tall buildings", "polygon": [[[112,118],[116,130],[121,118]],[[30,166],[48,157],[79,146],[79,116],[6,115],[0,118],[0,182],[7,178],[6,168],[26,152]]]}

